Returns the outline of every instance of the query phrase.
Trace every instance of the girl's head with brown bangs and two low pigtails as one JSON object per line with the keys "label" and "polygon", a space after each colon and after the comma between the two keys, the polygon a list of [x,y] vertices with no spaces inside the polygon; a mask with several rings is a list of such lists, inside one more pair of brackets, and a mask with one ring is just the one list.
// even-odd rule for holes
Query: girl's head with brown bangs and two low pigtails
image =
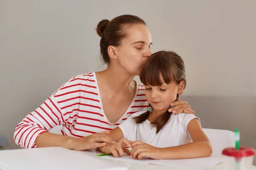
{"label": "girl's head with brown bangs and two low pigtails", "polygon": [[[160,115],[151,122],[158,133],[171,116],[168,112],[170,104],[180,97],[186,87],[184,62],[173,51],[156,52],[143,65],[140,81],[145,85],[145,95],[153,112]],[[142,123],[148,119],[149,113],[146,111],[133,119]]]}

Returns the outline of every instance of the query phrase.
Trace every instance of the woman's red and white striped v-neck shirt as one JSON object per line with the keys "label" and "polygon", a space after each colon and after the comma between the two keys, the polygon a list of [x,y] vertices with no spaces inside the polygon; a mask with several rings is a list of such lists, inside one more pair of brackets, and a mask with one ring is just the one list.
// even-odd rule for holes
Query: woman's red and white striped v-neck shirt
{"label": "woman's red and white striped v-neck shirt", "polygon": [[146,111],[145,87],[137,83],[137,91],[128,110],[115,123],[110,123],[102,109],[98,83],[94,72],[79,74],[64,83],[39,108],[29,113],[14,132],[20,147],[35,147],[35,139],[56,125],[66,136],[83,137],[112,130],[131,114]]}

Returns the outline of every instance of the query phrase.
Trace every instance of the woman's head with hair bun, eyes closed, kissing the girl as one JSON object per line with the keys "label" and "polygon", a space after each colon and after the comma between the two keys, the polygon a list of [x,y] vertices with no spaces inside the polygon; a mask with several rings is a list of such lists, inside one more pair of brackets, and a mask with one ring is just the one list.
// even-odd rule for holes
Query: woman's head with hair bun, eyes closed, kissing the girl
{"label": "woman's head with hair bun, eyes closed, kissing the girl", "polygon": [[139,75],[143,63],[151,56],[151,34],[145,21],[134,15],[121,15],[111,21],[100,21],[96,31],[101,37],[102,61],[108,67]]}

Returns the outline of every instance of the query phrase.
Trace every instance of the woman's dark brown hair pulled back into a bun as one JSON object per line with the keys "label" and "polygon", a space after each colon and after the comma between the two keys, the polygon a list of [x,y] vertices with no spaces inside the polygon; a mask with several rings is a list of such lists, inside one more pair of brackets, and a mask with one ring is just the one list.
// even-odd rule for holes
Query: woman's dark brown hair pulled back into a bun
{"label": "woman's dark brown hair pulled back into a bun", "polygon": [[118,47],[121,41],[128,36],[128,30],[135,24],[143,24],[147,26],[144,20],[134,15],[120,15],[113,20],[102,20],[99,22],[96,31],[100,40],[100,52],[102,62],[109,64],[108,46]]}

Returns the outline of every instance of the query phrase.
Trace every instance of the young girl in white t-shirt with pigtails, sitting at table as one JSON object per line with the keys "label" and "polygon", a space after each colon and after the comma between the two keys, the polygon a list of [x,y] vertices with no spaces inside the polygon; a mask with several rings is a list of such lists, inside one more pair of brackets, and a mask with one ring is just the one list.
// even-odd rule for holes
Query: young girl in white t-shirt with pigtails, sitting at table
{"label": "young girl in white t-shirt with pigtails, sitting at table", "polygon": [[[193,114],[168,112],[186,87],[184,62],[175,52],[159,51],[145,62],[140,80],[145,85],[148,111],[134,113],[111,130],[115,144],[100,147],[104,153],[134,159],[186,159],[210,156],[212,147],[200,120]],[[132,142],[135,141],[135,142]],[[193,142],[192,142],[193,141]],[[125,147],[132,147],[131,153]]]}

